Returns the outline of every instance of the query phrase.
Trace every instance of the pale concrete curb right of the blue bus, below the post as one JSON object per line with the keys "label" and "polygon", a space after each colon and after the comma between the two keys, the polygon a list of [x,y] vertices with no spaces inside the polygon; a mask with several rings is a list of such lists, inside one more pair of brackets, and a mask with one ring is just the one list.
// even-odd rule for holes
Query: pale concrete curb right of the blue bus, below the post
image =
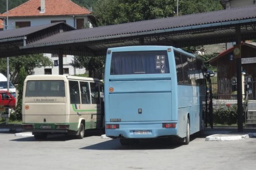
{"label": "pale concrete curb right of the blue bus, below the post", "polygon": [[205,141],[232,141],[232,140],[243,140],[256,136],[256,133],[248,134],[226,134],[227,136],[221,136],[221,134],[213,134],[205,138]]}

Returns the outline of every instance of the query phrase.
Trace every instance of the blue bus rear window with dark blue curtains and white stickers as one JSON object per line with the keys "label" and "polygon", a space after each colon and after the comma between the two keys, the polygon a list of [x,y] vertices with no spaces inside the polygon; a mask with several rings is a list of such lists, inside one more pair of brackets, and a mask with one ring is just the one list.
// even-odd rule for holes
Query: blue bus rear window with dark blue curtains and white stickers
{"label": "blue bus rear window with dark blue curtains and white stickers", "polygon": [[170,73],[167,51],[113,52],[110,75]]}

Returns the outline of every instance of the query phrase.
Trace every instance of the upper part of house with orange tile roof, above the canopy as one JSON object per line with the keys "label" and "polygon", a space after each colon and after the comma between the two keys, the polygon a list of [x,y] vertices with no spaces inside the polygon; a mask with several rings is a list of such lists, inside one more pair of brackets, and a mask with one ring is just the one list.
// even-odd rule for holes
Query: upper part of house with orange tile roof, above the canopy
{"label": "upper part of house with orange tile roof, above the canopy", "polygon": [[[0,15],[6,20],[6,12]],[[71,0],[28,0],[8,11],[8,29],[38,26],[63,21],[82,29],[88,21],[93,25],[95,18],[88,9]]]}

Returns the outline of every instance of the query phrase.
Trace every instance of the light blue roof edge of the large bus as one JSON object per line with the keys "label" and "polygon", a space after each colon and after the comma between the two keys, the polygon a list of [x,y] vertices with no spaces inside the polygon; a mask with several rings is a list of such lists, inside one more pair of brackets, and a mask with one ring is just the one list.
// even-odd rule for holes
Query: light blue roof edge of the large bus
{"label": "light blue roof edge of the large bus", "polygon": [[186,52],[180,48],[175,48],[173,46],[127,46],[127,47],[115,47],[115,48],[109,48],[108,51],[112,52],[121,52],[121,51],[156,51],[156,50],[167,50],[167,49],[173,49],[176,51],[179,51],[181,53],[184,53],[186,55],[189,55],[193,58],[199,58],[194,56],[193,54]]}

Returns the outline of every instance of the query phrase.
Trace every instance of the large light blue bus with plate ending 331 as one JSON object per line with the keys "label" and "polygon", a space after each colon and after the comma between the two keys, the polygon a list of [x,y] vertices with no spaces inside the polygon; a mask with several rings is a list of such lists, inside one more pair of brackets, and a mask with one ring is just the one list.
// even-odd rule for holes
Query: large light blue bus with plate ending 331
{"label": "large light blue bus with plate ending 331", "polygon": [[176,136],[189,144],[204,129],[203,60],[170,46],[109,48],[105,66],[106,136]]}

